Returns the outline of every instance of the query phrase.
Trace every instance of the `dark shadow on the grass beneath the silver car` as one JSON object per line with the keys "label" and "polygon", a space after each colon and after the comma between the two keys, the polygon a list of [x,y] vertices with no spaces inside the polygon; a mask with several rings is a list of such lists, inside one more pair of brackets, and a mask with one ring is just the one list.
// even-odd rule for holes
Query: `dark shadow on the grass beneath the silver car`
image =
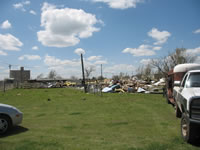
{"label": "dark shadow on the grass beneath the silver car", "polygon": [[27,132],[28,128],[22,127],[22,126],[15,126],[12,129],[10,129],[7,133],[0,135],[0,138],[8,137],[8,136],[14,136],[23,132]]}

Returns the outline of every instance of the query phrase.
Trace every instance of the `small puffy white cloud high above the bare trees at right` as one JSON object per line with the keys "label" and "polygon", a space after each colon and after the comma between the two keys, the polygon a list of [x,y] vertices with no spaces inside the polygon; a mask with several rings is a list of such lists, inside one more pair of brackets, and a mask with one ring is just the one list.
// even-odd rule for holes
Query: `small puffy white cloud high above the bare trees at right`
{"label": "small puffy white cloud high above the bare trees at right", "polygon": [[167,42],[168,38],[171,36],[171,33],[168,31],[159,31],[158,29],[153,28],[148,32],[148,36],[156,40],[154,45],[161,45]]}

